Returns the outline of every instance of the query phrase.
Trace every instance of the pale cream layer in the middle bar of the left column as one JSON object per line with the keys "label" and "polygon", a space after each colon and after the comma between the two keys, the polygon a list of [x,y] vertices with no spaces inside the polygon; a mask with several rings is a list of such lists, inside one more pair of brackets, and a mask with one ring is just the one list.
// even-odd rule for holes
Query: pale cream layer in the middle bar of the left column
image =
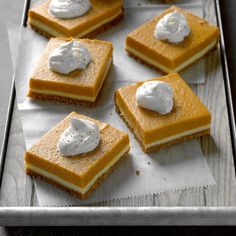
{"label": "pale cream layer in the middle bar of the left column", "polygon": [[60,97],[64,97],[64,98],[71,98],[71,99],[76,99],[76,100],[80,100],[80,101],[95,102],[96,98],[98,96],[98,93],[101,90],[101,87],[103,85],[103,82],[104,82],[104,80],[105,80],[105,78],[108,74],[108,71],[110,69],[111,64],[112,64],[112,58],[110,58],[110,60],[107,64],[105,74],[102,78],[102,82],[100,83],[100,86],[99,86],[99,88],[97,90],[97,93],[94,97],[71,94],[71,93],[64,93],[64,92],[58,92],[58,91],[52,91],[52,90],[46,90],[46,89],[33,89],[33,88],[30,88],[30,91],[35,92],[35,93],[45,94],[45,95],[54,95],[54,96],[60,96]]}

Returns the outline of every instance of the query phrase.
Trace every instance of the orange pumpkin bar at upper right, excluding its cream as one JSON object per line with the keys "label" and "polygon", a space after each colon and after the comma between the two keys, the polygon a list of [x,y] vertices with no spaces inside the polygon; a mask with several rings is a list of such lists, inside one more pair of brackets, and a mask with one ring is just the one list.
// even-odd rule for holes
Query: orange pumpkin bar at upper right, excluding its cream
{"label": "orange pumpkin bar at upper right, excluding its cream", "polygon": [[[174,11],[186,17],[190,34],[180,43],[157,39],[154,36],[156,24],[163,16]],[[173,6],[129,33],[126,38],[126,50],[137,60],[165,73],[172,73],[183,70],[216,48],[218,37],[217,27]]]}

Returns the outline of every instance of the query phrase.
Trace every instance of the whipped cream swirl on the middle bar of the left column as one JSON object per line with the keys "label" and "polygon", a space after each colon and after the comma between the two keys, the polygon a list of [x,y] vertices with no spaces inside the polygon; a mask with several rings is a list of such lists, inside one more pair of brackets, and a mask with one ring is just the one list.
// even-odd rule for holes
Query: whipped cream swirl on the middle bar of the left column
{"label": "whipped cream swirl on the middle bar of the left column", "polygon": [[49,55],[48,64],[51,70],[68,74],[76,69],[85,69],[91,61],[91,55],[85,45],[72,40],[55,48]]}

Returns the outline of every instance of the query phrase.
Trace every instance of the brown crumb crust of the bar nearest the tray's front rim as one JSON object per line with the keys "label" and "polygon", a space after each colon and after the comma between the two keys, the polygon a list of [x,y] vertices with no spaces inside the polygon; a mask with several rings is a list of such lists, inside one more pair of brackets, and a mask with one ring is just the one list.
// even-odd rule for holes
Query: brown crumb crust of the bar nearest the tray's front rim
{"label": "brown crumb crust of the bar nearest the tray's front rim", "polygon": [[73,189],[70,189],[58,182],[55,182],[54,180],[50,179],[50,178],[47,178],[43,175],[40,175],[34,171],[32,171],[31,169],[29,168],[26,168],[26,174],[27,175],[31,175],[31,176],[34,176],[38,179],[41,179],[49,184],[52,184],[54,185],[55,187],[57,188],[60,188],[62,190],[65,190],[67,191],[68,193],[70,193],[72,196],[74,197],[78,197],[80,199],[86,199],[87,197],[89,197],[92,192],[103,182],[103,180],[110,174],[112,173],[112,171],[128,156],[128,153],[129,153],[129,150],[106,172],[104,173],[102,176],[100,176],[96,182],[94,183],[94,185],[85,193],[85,194],[81,194],[79,192],[76,192],[75,190]]}

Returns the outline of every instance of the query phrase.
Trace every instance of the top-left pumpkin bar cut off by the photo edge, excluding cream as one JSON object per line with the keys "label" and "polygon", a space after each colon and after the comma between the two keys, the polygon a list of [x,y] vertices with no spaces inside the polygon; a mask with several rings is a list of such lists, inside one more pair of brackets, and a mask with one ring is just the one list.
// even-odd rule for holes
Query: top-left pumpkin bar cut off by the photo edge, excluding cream
{"label": "top-left pumpkin bar cut off by the photo edge, excluding cream", "polygon": [[116,24],[124,14],[122,0],[90,0],[91,9],[84,15],[59,19],[49,13],[51,0],[29,11],[29,25],[46,37],[83,38]]}

